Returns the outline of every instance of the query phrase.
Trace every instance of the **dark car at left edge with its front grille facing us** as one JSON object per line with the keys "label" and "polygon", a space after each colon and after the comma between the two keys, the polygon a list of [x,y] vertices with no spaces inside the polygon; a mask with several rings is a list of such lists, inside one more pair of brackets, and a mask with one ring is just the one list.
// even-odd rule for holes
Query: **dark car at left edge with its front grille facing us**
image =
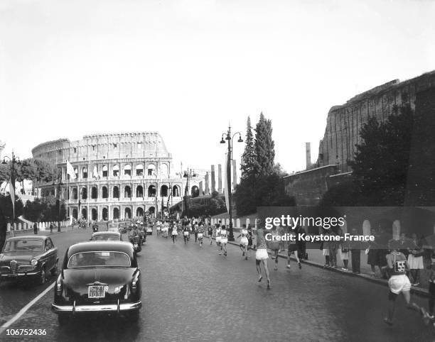
{"label": "dark car at left edge with its front grille facing us", "polygon": [[48,236],[8,238],[0,254],[0,280],[45,283],[48,272],[58,272],[58,248]]}

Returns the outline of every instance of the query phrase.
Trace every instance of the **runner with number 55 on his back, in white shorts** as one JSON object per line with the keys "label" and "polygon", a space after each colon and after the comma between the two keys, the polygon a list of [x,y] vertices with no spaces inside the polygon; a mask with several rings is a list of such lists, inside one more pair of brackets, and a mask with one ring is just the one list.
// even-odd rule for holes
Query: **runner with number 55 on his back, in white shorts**
{"label": "runner with number 55 on his back, in white shorts", "polygon": [[403,253],[399,252],[399,241],[390,241],[388,247],[391,250],[390,254],[387,254],[387,265],[382,267],[382,270],[390,272],[390,279],[388,280],[388,287],[390,287],[390,294],[388,295],[388,314],[384,321],[386,324],[392,325],[392,319],[394,316],[394,309],[396,306],[397,294],[402,293],[407,302],[408,309],[419,311],[423,316],[426,316],[426,312],[423,308],[420,308],[417,304],[411,303],[411,282],[406,275],[409,270],[407,258]]}

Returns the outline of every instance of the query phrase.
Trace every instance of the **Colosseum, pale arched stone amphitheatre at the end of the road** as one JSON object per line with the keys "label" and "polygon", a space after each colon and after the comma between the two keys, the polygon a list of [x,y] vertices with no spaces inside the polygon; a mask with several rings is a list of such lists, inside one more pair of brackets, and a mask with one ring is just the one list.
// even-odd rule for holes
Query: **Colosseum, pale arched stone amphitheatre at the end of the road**
{"label": "Colosseum, pale arched stone amphitheatre at the end of the road", "polygon": [[[131,219],[155,214],[182,199],[186,179],[175,172],[172,155],[156,132],[113,133],[59,139],[32,149],[33,158],[58,167],[62,181],[38,184],[43,196],[67,199],[68,217],[92,220]],[[68,177],[66,161],[75,171]],[[181,170],[180,170],[181,171]],[[199,180],[190,180],[198,192]],[[68,187],[68,189],[67,189]]]}

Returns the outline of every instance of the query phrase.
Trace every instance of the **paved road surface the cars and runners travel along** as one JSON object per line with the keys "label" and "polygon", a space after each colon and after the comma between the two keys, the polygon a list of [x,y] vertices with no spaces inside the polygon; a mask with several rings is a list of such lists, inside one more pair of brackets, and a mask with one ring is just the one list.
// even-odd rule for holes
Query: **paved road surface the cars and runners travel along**
{"label": "paved road surface the cars and runners travel along", "polygon": [[[71,243],[85,233],[65,233]],[[63,243],[63,236],[56,237]],[[149,237],[139,256],[144,272],[144,307],[139,324],[121,319],[77,320],[60,329],[50,312],[53,292],[35,304],[15,329],[46,329],[48,341],[432,341],[419,316],[398,301],[396,324],[382,322],[387,288],[355,277],[284,260],[272,270],[272,289],[257,282],[254,260],[229,246],[225,258],[215,245]],[[270,263],[269,263],[270,264]],[[272,266],[272,264],[270,264]],[[38,292],[41,292],[41,287]],[[15,292],[15,293],[14,293]],[[9,288],[8,298],[21,294]],[[15,302],[15,300],[14,300]],[[426,304],[417,299],[419,304]],[[16,311],[18,311],[16,307]],[[5,333],[1,339],[13,340]],[[20,338],[26,341],[26,338]]]}

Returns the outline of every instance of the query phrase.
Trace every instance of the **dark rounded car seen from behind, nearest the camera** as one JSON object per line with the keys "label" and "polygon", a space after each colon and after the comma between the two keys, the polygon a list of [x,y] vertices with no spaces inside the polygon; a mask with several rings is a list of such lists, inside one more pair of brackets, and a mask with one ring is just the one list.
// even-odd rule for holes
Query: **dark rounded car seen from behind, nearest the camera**
{"label": "dark rounded car seen from behind, nearest the camera", "polygon": [[54,302],[60,325],[72,316],[114,314],[139,319],[141,272],[131,243],[76,243],[65,253],[55,282]]}

